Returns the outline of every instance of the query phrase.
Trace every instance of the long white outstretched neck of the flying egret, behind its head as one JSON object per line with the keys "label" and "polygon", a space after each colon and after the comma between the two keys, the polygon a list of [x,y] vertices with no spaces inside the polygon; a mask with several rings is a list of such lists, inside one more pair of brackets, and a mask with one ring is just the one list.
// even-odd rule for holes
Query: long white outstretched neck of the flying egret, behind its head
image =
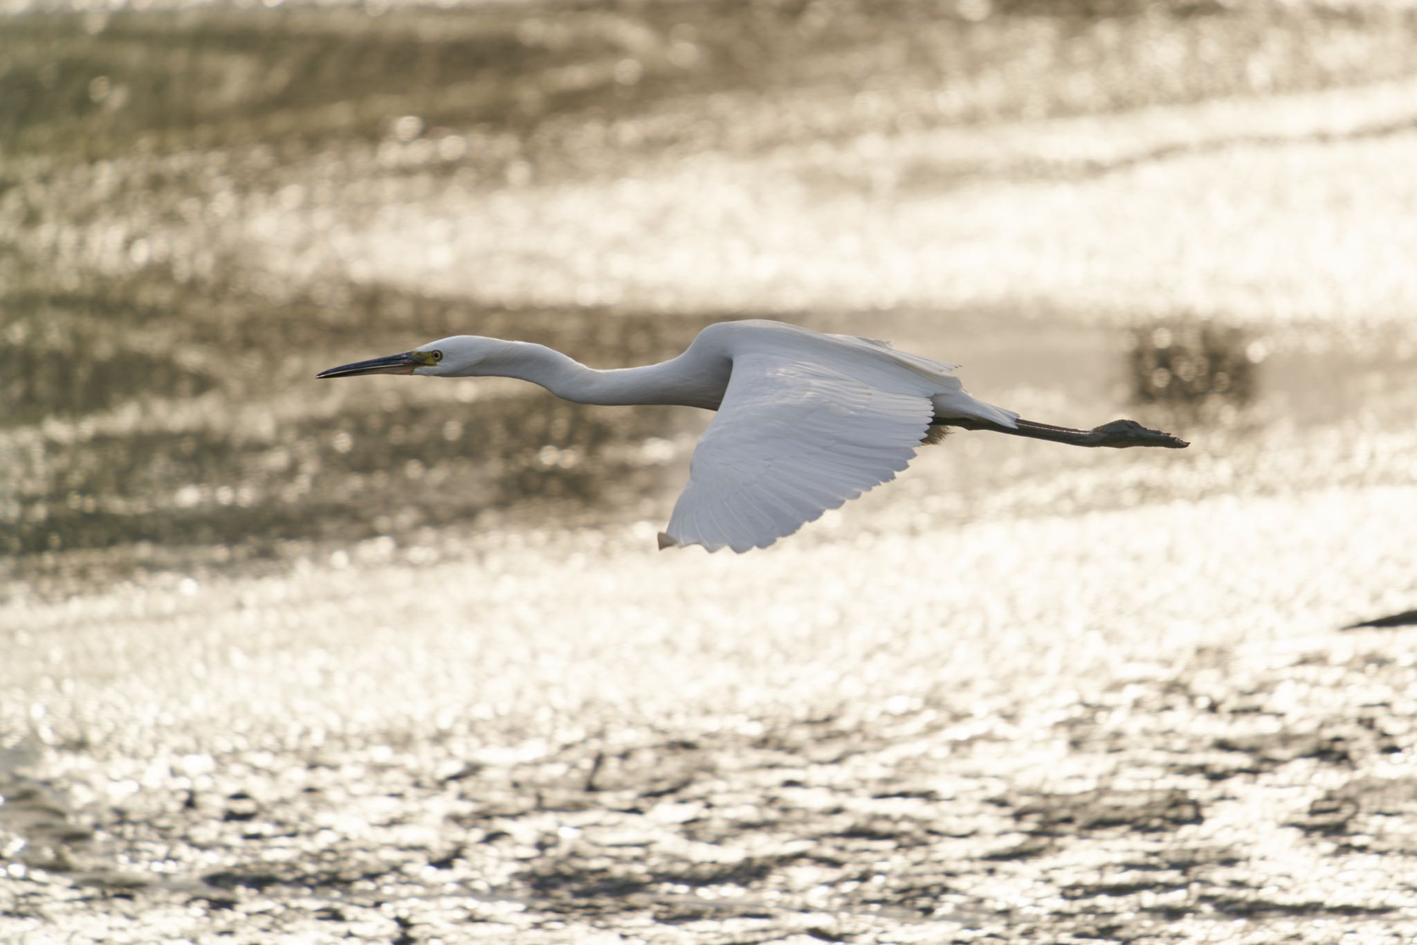
{"label": "long white outstretched neck of the flying egret, behind its head", "polygon": [[673,404],[717,409],[727,381],[707,377],[683,354],[648,367],[598,371],[544,344],[506,344],[496,358],[475,373],[531,381],[577,404]]}

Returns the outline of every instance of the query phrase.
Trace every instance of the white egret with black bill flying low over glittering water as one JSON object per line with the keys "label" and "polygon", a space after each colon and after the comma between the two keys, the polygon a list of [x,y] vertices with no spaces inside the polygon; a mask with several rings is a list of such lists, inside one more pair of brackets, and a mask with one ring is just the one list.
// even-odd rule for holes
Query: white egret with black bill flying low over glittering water
{"label": "white egret with black bill flying low over glittering water", "polygon": [[966,394],[955,367],[886,341],[748,320],[710,324],[683,354],[648,367],[598,371],[541,344],[459,334],[319,377],[514,377],[578,404],[718,411],[660,548],[769,545],[894,479],[947,426],[1076,446],[1187,445],[1129,419],[1090,431],[1020,419]]}

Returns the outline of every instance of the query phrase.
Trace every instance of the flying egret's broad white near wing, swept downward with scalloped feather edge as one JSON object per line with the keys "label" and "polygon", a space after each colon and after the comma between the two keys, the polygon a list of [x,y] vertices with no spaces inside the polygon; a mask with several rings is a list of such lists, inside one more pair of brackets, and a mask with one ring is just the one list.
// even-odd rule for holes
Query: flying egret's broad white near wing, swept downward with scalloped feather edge
{"label": "flying egret's broad white near wing, swept downward with scalloped feather edge", "polygon": [[761,548],[905,469],[934,415],[928,392],[857,374],[782,354],[734,358],[660,547]]}

